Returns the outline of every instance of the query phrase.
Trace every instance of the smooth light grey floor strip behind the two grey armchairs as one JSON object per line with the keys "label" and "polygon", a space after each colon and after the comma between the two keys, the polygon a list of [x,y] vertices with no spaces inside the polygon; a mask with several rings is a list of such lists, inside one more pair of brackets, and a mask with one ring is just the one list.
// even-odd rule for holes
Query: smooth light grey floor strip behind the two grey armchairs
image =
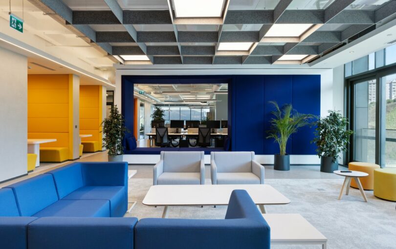
{"label": "smooth light grey floor strip behind the two grey armchairs", "polygon": [[[153,179],[154,165],[129,165],[129,169],[137,170],[134,178]],[[319,165],[291,165],[290,171],[274,170],[274,166],[265,165],[265,179],[342,179],[332,173],[320,172]],[[346,169],[339,166],[339,169]],[[205,165],[205,178],[210,179],[210,166]]]}

